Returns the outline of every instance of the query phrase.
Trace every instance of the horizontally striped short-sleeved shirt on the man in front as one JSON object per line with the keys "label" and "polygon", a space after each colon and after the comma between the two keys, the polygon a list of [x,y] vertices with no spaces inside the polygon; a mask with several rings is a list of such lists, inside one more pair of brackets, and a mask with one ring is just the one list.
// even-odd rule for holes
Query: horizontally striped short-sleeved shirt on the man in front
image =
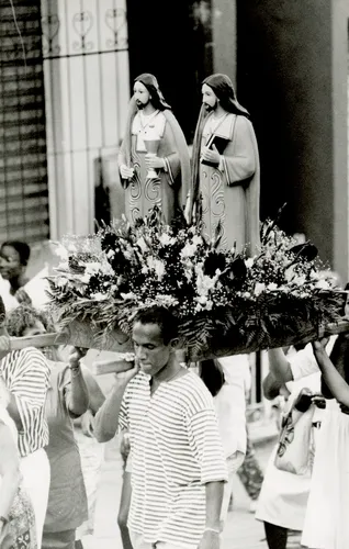
{"label": "horizontally striped short-sleeved shirt on the man in front", "polygon": [[119,424],[132,448],[130,529],[148,544],[198,547],[205,484],[227,480],[210,392],[188,372],[150,395],[149,377],[139,372],[126,388]]}

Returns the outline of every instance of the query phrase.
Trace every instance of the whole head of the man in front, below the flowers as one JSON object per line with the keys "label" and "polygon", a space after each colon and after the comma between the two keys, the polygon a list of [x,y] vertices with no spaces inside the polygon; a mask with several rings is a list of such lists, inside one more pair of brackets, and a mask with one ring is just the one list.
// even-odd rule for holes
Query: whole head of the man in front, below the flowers
{"label": "whole head of the man in front, below the flowers", "polygon": [[177,320],[166,307],[144,309],[134,318],[132,338],[142,370],[156,376],[174,355],[178,343]]}

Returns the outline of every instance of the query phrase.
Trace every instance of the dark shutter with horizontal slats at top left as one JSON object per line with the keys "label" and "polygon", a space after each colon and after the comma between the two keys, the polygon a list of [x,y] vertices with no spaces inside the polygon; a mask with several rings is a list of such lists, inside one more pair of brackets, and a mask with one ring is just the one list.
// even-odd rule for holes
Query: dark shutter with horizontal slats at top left
{"label": "dark shutter with horizontal slats at top left", "polygon": [[40,0],[13,8],[16,24],[0,0],[0,240],[35,242],[49,232]]}

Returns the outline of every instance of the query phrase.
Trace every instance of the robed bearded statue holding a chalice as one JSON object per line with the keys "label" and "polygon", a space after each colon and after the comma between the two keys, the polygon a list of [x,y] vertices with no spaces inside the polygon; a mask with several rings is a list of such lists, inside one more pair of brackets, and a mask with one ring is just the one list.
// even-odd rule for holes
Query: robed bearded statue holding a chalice
{"label": "robed bearded statue holding a chalice", "polygon": [[165,101],[155,76],[134,82],[119,168],[130,223],[157,205],[166,223],[185,206],[190,158],[183,132]]}

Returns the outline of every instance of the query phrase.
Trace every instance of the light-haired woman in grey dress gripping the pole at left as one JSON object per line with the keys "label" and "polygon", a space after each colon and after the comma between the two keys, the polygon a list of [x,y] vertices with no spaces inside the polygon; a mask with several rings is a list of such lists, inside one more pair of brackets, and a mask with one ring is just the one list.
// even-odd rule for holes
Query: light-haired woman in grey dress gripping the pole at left
{"label": "light-haired woman in grey dress gripping the pole at left", "polygon": [[[47,317],[29,305],[8,316],[11,336],[36,336],[50,330]],[[46,400],[50,484],[42,549],[74,549],[76,529],[88,518],[87,496],[72,419],[89,405],[89,391],[81,371],[83,352],[72,349],[69,363],[60,362],[56,349],[46,349],[50,388]]]}

